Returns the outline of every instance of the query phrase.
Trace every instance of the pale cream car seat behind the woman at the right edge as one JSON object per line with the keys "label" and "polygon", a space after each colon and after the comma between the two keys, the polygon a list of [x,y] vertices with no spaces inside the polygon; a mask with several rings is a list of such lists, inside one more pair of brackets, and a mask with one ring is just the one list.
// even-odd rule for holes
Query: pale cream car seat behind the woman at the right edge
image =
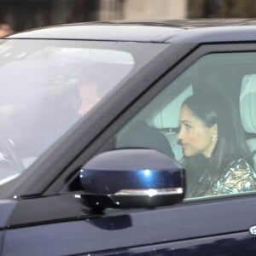
{"label": "pale cream car seat behind the woman at the right edge", "polygon": [[256,74],[247,74],[241,81],[240,115],[243,128],[250,135],[247,145],[256,167]]}

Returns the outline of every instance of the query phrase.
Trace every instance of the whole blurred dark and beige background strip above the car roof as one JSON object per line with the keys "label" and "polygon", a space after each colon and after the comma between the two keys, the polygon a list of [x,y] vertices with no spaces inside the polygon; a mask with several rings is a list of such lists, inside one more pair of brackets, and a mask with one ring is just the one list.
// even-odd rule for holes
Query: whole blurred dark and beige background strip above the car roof
{"label": "whole blurred dark and beige background strip above the car roof", "polygon": [[255,0],[0,0],[0,23],[15,32],[92,20],[253,18]]}

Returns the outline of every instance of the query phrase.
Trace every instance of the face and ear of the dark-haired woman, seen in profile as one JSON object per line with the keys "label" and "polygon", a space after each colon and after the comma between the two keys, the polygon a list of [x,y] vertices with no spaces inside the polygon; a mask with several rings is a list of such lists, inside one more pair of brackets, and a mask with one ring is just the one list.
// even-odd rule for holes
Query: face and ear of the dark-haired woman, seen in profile
{"label": "face and ear of the dark-haired woman, seen in profile", "polygon": [[179,113],[180,131],[177,138],[183,147],[185,156],[204,154],[211,157],[217,143],[217,125],[208,128],[188,106],[184,105]]}

